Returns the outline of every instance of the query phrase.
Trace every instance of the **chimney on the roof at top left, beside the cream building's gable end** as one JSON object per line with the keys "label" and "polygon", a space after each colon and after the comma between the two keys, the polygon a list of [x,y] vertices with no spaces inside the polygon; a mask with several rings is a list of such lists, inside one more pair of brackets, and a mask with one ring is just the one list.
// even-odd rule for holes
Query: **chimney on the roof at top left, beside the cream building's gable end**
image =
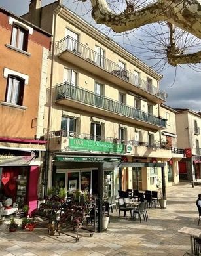
{"label": "chimney on the roof at top left, beside the cream building's gable end", "polygon": [[41,25],[41,6],[41,0],[31,0],[29,3],[28,20],[36,26]]}

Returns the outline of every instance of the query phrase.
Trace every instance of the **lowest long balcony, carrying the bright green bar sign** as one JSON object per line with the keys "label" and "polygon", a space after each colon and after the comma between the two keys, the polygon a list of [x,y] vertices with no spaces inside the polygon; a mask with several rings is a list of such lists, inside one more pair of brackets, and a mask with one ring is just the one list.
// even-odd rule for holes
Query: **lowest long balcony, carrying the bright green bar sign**
{"label": "lowest long balcony, carrying the bright green bar sign", "polygon": [[119,140],[113,137],[59,130],[50,133],[50,150],[62,152],[85,152],[101,154],[132,154],[134,156],[171,158],[170,148],[136,140]]}

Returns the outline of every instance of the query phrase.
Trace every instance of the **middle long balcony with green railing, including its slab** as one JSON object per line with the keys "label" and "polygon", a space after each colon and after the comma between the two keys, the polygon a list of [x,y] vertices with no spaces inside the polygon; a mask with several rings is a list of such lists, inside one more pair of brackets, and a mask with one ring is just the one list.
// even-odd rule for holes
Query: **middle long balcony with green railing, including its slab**
{"label": "middle long balcony with green railing, including its slab", "polygon": [[103,116],[120,119],[120,121],[130,122],[132,124],[147,127],[147,129],[160,130],[166,128],[166,119],[148,114],[132,108],[125,104],[121,104],[115,100],[111,100],[105,96],[96,95],[92,91],[88,91],[81,87],[62,83],[56,87],[56,101],[58,104],[71,106],[79,110],[100,114]]}

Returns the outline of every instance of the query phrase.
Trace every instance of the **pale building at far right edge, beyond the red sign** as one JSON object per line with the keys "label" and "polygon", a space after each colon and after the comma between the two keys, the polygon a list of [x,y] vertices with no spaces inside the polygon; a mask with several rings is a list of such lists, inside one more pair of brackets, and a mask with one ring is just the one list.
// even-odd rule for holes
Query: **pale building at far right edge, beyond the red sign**
{"label": "pale building at far right edge, beyond the red sign", "polygon": [[177,145],[185,148],[187,158],[179,161],[179,178],[194,181],[200,178],[201,116],[189,108],[177,108]]}

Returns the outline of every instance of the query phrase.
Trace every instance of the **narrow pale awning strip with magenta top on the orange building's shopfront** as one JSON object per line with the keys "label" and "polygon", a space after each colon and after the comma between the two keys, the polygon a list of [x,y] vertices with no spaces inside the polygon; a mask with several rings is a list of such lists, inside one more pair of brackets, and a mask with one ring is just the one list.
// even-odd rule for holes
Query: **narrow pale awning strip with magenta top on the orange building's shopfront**
{"label": "narrow pale awning strip with magenta top on the orange building's shopfront", "polygon": [[24,151],[46,151],[45,145],[12,143],[12,142],[0,142],[0,149],[24,150]]}

